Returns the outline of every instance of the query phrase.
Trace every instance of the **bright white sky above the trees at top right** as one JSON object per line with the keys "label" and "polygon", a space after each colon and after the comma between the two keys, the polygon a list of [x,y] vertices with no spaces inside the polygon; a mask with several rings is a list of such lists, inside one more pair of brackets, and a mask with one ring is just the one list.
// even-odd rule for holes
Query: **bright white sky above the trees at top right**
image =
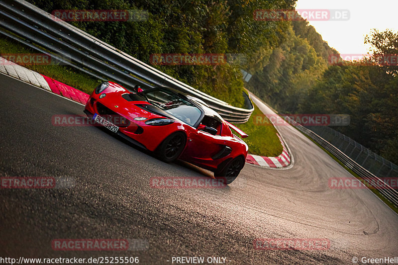
{"label": "bright white sky above the trees at top right", "polygon": [[296,9],[349,10],[345,21],[308,21],[340,54],[368,53],[364,39],[373,28],[398,31],[398,0],[297,0]]}

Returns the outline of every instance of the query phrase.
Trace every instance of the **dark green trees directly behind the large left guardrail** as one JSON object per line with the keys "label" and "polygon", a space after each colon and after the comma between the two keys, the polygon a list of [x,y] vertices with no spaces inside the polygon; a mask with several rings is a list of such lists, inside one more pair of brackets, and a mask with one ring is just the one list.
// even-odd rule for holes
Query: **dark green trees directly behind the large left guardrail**
{"label": "dark green trees directly behind the large left guardrail", "polygon": [[[55,9],[140,9],[147,21],[71,22],[116,48],[150,63],[155,53],[236,53],[244,64],[153,66],[235,106],[243,106],[240,69],[255,67],[285,39],[287,23],[259,22],[253,10],[292,8],[294,0],[30,0]],[[252,62],[254,61],[254,62]]]}

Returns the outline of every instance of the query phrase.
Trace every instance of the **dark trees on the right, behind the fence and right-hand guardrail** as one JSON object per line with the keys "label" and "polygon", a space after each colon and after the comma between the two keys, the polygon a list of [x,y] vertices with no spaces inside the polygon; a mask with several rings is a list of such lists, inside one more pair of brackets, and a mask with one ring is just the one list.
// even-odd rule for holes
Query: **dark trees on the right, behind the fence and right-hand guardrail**
{"label": "dark trees on the right, behind the fence and right-hand guardrail", "polygon": [[334,128],[398,164],[397,65],[378,63],[380,55],[398,55],[398,33],[374,30],[365,41],[373,45],[373,64],[329,66],[297,111],[350,114],[350,126]]}

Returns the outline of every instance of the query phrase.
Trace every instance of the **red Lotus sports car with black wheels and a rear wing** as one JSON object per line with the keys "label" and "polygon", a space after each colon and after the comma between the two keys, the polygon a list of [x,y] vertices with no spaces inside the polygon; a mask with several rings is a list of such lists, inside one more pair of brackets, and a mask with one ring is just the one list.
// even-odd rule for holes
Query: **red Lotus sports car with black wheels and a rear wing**
{"label": "red Lotus sports car with black wheels and a rear wing", "polygon": [[159,159],[181,159],[231,183],[245,165],[248,147],[240,129],[202,100],[171,88],[138,86],[134,92],[113,82],[99,85],[84,112],[97,123]]}

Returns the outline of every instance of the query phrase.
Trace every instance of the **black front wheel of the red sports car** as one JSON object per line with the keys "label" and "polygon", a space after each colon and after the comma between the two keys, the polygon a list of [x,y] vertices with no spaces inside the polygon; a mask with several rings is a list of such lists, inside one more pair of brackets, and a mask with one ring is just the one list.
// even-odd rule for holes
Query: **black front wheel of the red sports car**
{"label": "black front wheel of the red sports car", "polygon": [[187,136],[183,132],[176,132],[169,135],[158,146],[155,153],[163,162],[170,163],[175,161],[183,152]]}

